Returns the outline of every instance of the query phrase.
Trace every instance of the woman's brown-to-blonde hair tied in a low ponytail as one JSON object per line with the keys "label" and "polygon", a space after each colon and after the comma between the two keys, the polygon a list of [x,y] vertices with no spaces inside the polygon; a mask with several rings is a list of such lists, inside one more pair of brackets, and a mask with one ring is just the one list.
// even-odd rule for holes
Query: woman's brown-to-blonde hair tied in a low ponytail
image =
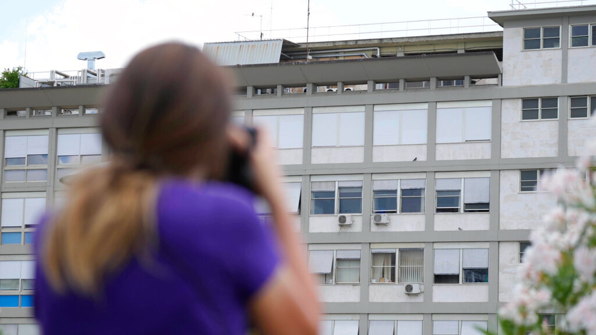
{"label": "woman's brown-to-blonde hair tied in a low ponytail", "polygon": [[100,114],[113,160],[73,178],[42,240],[55,290],[97,295],[108,275],[157,245],[160,179],[222,177],[230,91],[222,70],[192,46],[157,45],[133,58]]}

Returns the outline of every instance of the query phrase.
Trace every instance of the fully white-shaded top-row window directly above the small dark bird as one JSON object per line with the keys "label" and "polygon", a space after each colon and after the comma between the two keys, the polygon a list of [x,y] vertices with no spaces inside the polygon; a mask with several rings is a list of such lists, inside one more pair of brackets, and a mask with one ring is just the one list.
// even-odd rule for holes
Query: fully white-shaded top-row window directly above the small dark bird
{"label": "fully white-shaded top-row window directly above the small dark bird", "polygon": [[426,109],[374,111],[373,145],[426,144],[427,126]]}

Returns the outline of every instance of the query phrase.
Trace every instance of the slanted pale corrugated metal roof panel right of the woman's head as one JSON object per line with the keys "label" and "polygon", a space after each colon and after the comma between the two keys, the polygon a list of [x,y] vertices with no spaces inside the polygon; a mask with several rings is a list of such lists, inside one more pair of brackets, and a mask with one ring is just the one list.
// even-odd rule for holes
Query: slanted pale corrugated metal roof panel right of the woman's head
{"label": "slanted pale corrugated metal roof panel right of the woman's head", "polygon": [[219,65],[280,63],[283,39],[206,43],[203,52]]}

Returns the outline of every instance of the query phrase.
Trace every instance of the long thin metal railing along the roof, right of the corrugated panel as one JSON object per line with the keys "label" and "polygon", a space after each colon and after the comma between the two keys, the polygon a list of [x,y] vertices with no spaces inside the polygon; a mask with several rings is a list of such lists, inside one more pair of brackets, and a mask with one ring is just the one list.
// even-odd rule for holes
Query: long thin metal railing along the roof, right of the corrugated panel
{"label": "long thin metal railing along the roof, right of the corrugated panel", "polygon": [[[396,21],[341,26],[311,27],[309,42],[345,41],[348,39],[400,38],[458,33],[495,32],[502,27],[486,16],[439,18],[436,20]],[[235,32],[239,41],[259,39],[260,30]],[[306,27],[273,29],[266,38],[284,38],[292,42],[306,41]]]}

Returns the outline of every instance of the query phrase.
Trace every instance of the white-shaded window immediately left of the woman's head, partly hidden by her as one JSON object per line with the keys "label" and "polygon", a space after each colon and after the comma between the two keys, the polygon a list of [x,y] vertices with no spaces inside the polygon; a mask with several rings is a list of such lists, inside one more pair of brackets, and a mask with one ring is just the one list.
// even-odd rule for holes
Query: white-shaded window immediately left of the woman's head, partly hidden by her
{"label": "white-shaded window immediately left of the woman's head, partly hidden by her", "polygon": [[58,134],[57,177],[69,174],[80,165],[101,162],[101,134]]}

